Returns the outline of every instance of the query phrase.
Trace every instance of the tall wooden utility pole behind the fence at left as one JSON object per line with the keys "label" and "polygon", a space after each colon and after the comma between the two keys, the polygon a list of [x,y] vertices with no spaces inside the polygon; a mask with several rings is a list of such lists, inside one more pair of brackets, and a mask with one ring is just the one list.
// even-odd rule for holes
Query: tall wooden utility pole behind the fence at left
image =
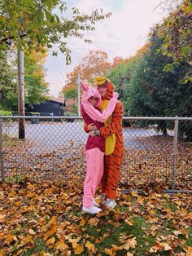
{"label": "tall wooden utility pole behind the fence at left", "polygon": [[[24,51],[18,49],[18,113],[24,116]],[[19,119],[19,139],[25,138],[25,120]]]}

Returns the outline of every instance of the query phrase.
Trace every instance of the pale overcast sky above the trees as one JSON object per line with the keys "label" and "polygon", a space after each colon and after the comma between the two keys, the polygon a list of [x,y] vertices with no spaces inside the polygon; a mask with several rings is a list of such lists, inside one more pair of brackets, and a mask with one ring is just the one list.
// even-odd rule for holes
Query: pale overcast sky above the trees
{"label": "pale overcast sky above the trees", "polygon": [[68,41],[72,51],[71,65],[65,64],[63,54],[47,57],[46,81],[50,82],[50,95],[59,95],[66,74],[80,63],[89,50],[107,52],[110,61],[116,56],[127,58],[134,55],[146,43],[151,26],[159,23],[165,15],[158,7],[160,2],[162,0],[71,0],[68,8],[77,7],[81,12],[91,13],[102,7],[104,12],[111,12],[112,15],[98,22],[96,30],[87,35],[92,44],[85,44],[76,38]]}

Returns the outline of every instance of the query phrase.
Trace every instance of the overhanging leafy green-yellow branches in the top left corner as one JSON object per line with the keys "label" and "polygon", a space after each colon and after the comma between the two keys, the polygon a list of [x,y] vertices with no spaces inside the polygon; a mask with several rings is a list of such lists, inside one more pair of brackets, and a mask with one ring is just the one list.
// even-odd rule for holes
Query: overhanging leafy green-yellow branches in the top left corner
{"label": "overhanging leafy green-yellow branches in the top left corner", "polygon": [[[57,9],[60,14],[55,13]],[[103,10],[95,10],[90,15],[81,14],[72,8],[70,18],[66,18],[67,3],[63,0],[18,2],[0,1],[0,47],[13,42],[16,47],[27,51],[43,51],[53,44],[66,55],[67,64],[71,61],[66,38],[83,38],[85,31],[94,30],[97,21],[110,17]],[[90,42],[85,38],[85,42]],[[57,55],[53,51],[53,55]]]}

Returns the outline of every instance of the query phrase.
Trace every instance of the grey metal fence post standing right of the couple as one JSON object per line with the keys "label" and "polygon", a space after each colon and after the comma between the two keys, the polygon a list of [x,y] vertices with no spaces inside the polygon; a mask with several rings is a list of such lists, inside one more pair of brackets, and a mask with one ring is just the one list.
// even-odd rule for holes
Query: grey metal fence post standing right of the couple
{"label": "grey metal fence post standing right of the couple", "polygon": [[178,139],[179,120],[176,117],[174,126],[173,154],[172,154],[172,189],[175,188],[176,167],[177,167],[177,139]]}

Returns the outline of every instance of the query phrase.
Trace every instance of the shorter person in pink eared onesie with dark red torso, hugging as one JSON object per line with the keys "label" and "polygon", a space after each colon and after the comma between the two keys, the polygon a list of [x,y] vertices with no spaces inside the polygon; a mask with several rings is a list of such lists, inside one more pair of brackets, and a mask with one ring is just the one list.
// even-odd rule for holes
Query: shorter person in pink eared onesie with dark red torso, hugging
{"label": "shorter person in pink eared onesie with dark red torso, hugging", "polygon": [[89,135],[85,145],[86,175],[82,210],[89,214],[98,214],[101,209],[98,207],[98,203],[94,201],[94,194],[103,177],[105,152],[105,139],[99,134],[99,128],[104,126],[104,122],[116,108],[118,94],[114,93],[107,108],[101,113],[99,107],[102,99],[98,90],[85,84],[81,86],[85,90],[81,103],[82,117],[87,125],[94,123],[98,128],[94,131],[94,137]]}

